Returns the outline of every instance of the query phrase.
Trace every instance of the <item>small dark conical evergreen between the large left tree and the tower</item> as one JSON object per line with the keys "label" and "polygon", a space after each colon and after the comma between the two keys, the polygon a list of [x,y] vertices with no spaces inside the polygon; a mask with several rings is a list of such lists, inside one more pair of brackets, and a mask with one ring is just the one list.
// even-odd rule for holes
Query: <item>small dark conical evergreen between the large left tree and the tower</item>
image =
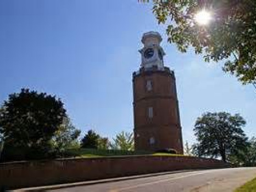
{"label": "small dark conical evergreen between the large left tree and the tower", "polygon": [[98,148],[98,139],[101,138],[99,134],[94,132],[92,129],[90,129],[86,134],[85,137],[81,140],[81,147],[82,148],[92,148],[97,149]]}

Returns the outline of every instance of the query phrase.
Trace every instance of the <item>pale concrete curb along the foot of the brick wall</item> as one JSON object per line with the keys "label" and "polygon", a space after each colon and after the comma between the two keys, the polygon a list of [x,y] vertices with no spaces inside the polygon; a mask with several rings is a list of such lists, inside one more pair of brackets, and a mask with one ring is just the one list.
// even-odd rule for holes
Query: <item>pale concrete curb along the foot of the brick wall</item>
{"label": "pale concrete curb along the foot of the brick wall", "polygon": [[31,187],[31,188],[20,188],[20,189],[9,190],[9,191],[14,191],[14,192],[45,191],[45,190],[53,190],[53,189],[78,187],[78,186],[83,186],[83,185],[94,185],[94,184],[101,184],[101,183],[118,182],[118,181],[122,181],[122,180],[138,179],[138,178],[145,178],[145,177],[162,176],[164,174],[190,172],[190,171],[192,172],[192,171],[199,171],[199,170],[202,170],[202,169],[179,170],[179,171],[168,171],[168,172],[151,173],[151,174],[141,174],[141,175],[137,175],[137,176],[118,177],[118,178],[109,178],[109,179],[101,179],[101,180],[90,180],[90,181],[85,181],[85,182],[75,182],[75,183],[66,183],[66,184],[57,184],[57,185],[46,185],[46,186]]}

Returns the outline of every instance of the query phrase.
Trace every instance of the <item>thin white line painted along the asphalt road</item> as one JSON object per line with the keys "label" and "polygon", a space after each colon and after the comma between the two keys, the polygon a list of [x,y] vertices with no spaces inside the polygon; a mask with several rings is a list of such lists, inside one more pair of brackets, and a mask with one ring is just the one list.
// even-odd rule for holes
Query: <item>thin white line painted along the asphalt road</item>
{"label": "thin white line painted along the asphalt road", "polygon": [[169,179],[157,180],[155,182],[149,182],[149,183],[143,183],[143,184],[139,184],[139,185],[133,185],[131,187],[112,189],[109,192],[118,192],[118,191],[124,191],[124,190],[128,190],[128,189],[139,188],[139,187],[143,187],[143,186],[146,186],[146,185],[152,185],[152,184],[156,184],[156,183],[166,182],[168,180],[175,180],[175,179],[181,179],[181,178],[190,177],[190,176],[196,176],[198,174],[204,174],[204,173],[208,173],[208,172],[211,172],[211,171],[204,171],[204,172],[199,172],[199,173],[186,174],[185,176],[179,176],[179,177],[172,177],[172,178],[169,178]]}

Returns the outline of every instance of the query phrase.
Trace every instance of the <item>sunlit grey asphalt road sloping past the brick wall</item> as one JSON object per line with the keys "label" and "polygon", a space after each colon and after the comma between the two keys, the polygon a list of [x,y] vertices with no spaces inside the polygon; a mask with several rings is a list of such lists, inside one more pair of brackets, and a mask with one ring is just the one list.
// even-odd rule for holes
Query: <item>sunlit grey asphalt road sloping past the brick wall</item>
{"label": "sunlit grey asphalt road sloping past the brick wall", "polygon": [[[48,191],[233,191],[256,177],[256,167],[186,171]],[[256,191],[256,189],[255,189]]]}

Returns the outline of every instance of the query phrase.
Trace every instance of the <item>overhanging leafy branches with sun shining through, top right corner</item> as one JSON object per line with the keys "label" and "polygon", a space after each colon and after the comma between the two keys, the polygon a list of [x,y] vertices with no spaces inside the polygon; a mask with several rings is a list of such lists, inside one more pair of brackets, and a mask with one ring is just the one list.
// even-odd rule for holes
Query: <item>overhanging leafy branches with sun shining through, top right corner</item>
{"label": "overhanging leafy branches with sun shining through, top right corner", "polygon": [[[148,0],[142,0],[149,2]],[[153,1],[159,24],[168,22],[168,41],[181,52],[192,46],[205,61],[224,60],[222,69],[243,84],[256,88],[256,1],[164,0]],[[212,14],[209,25],[200,25],[197,14]],[[202,12],[201,12],[202,13]]]}

